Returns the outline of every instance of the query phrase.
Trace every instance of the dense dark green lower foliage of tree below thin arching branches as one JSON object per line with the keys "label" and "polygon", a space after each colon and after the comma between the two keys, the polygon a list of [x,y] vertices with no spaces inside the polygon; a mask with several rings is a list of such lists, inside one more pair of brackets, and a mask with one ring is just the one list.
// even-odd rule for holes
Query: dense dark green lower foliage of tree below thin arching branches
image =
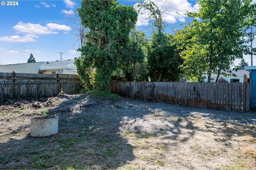
{"label": "dense dark green lower foliage of tree below thin arching branches", "polygon": [[182,59],[172,41],[170,34],[153,34],[148,47],[148,75],[151,81],[179,81],[181,71],[178,67]]}

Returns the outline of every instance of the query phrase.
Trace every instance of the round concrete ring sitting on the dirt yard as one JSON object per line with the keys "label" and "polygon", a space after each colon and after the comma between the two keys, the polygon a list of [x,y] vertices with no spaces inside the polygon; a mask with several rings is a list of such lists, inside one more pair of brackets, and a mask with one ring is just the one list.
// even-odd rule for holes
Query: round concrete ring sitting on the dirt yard
{"label": "round concrete ring sitting on the dirt yard", "polygon": [[56,133],[58,133],[57,116],[41,116],[30,119],[30,136],[46,137]]}

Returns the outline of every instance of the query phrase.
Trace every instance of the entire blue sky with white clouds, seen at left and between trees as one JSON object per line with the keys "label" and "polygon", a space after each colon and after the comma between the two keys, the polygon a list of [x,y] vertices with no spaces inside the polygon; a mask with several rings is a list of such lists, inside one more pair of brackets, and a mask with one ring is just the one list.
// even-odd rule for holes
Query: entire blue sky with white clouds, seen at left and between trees
{"label": "entire blue sky with white clouds, seen at left and between trees", "polygon": [[[33,54],[37,62],[74,59],[79,53],[76,29],[78,22],[73,14],[81,1],[71,0],[18,0],[18,5],[7,6],[7,0],[1,0],[0,5],[0,64],[26,63]],[[121,0],[120,4],[134,6],[138,1]],[[191,0],[155,0],[162,10],[178,11],[183,14],[187,10],[198,11],[196,1]],[[138,17],[137,28],[149,32],[150,21],[147,11],[142,11]],[[166,32],[171,32],[172,26],[179,26],[188,21],[184,15],[174,12],[162,14],[168,24]],[[71,20],[70,20],[71,19]],[[255,30],[255,28],[254,28]],[[254,41],[253,46],[256,46]],[[245,56],[250,64],[250,58]],[[256,59],[254,59],[256,65]]]}

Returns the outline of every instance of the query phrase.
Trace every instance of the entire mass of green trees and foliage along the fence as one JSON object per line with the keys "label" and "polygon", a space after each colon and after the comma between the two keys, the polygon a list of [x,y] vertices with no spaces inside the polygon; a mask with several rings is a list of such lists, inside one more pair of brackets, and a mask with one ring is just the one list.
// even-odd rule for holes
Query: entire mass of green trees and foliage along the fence
{"label": "entire mass of green trees and foliage along the fence", "polygon": [[[81,57],[75,60],[87,90],[109,92],[110,77],[127,81],[204,81],[208,75],[230,75],[235,59],[250,54],[250,32],[256,25],[256,4],[251,0],[198,0],[199,12],[187,12],[192,23],[164,34],[161,11],[153,1],[140,1],[153,20],[151,36],[137,31],[138,14],[118,2],[81,2],[83,28]],[[173,11],[170,11],[173,12]],[[255,50],[254,50],[255,51]],[[235,69],[243,69],[244,60]],[[96,93],[96,92],[95,92]],[[98,92],[97,92],[98,93]]]}

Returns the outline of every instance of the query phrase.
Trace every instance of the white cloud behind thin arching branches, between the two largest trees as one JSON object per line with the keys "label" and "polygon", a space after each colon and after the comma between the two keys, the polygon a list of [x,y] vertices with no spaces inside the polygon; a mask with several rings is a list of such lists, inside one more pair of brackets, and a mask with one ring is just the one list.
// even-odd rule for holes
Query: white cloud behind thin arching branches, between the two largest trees
{"label": "white cloud behind thin arching branches, between the two largest trees", "polygon": [[[184,15],[184,13],[186,11],[199,11],[198,4],[192,6],[192,4],[188,2],[188,0],[175,0],[172,2],[168,2],[166,0],[154,0],[153,2],[162,11],[161,15],[163,21],[166,23],[176,23],[177,20],[179,20],[180,22],[185,22],[186,16]],[[138,3],[134,5],[134,8],[136,9],[138,9],[136,7],[137,4]],[[148,18],[148,13],[149,11],[144,9],[139,12],[138,21],[136,23],[137,26],[147,26],[149,24],[149,20],[146,20],[146,18]]]}

